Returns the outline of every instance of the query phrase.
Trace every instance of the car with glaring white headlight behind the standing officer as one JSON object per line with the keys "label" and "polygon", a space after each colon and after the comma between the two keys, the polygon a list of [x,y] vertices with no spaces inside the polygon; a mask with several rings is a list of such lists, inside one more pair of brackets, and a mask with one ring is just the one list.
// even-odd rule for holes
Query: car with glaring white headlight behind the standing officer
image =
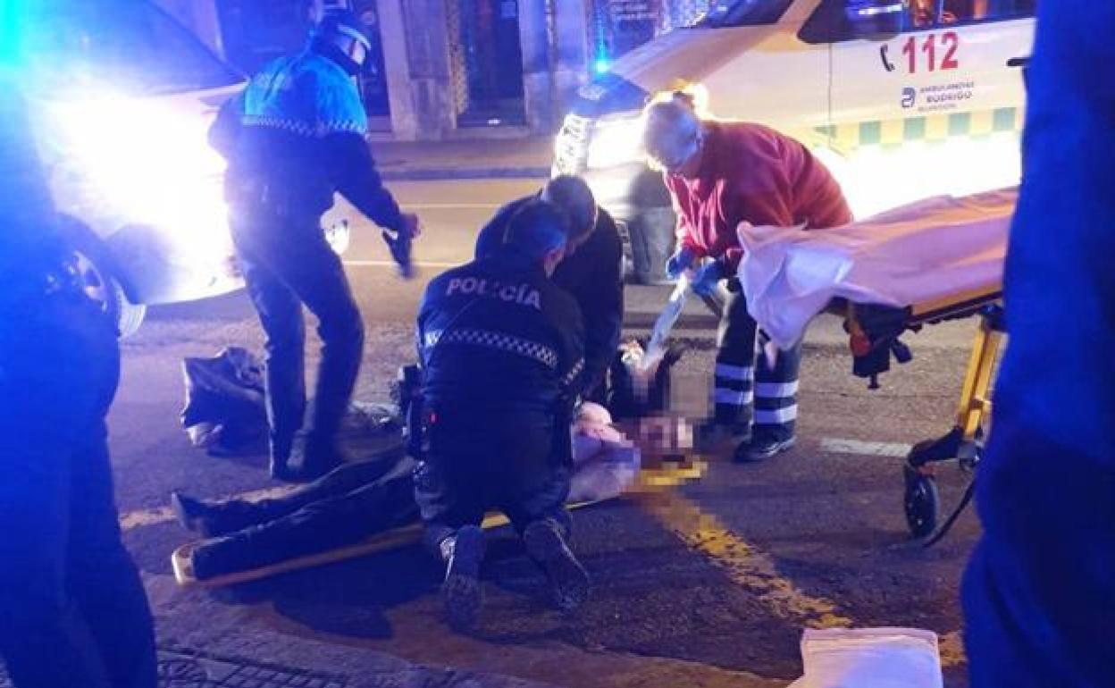
{"label": "car with glaring white headlight behind the standing officer", "polygon": [[207,133],[243,75],[148,2],[16,7],[0,42],[87,293],[129,335],[148,304],[241,288]]}

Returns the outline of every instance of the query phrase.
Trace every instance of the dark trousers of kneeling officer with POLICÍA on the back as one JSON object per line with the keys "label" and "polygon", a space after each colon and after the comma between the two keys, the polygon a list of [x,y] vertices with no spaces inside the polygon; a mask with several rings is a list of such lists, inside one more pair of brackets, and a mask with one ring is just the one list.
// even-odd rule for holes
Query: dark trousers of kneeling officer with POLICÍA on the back
{"label": "dark trousers of kneeling officer with POLIC\u00cdA on the back", "polygon": [[569,536],[565,511],[570,461],[555,433],[569,425],[545,414],[437,411],[429,427],[429,455],[415,471],[415,501],[426,523],[426,545],[439,552],[446,537],[465,525],[479,525],[491,508],[502,511],[522,533],[535,521],[551,520]]}

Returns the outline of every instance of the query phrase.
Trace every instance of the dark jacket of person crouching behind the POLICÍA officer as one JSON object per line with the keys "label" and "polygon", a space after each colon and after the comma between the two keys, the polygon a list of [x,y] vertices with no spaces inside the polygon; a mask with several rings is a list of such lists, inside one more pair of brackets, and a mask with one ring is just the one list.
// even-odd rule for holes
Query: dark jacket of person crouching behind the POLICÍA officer
{"label": "dark jacket of person crouching behind the POLIC\u00cdA officer", "polygon": [[[476,258],[498,250],[507,221],[526,196],[504,205],[476,238]],[[615,356],[623,327],[623,244],[615,221],[603,209],[589,240],[554,271],[553,282],[576,300],[584,317],[584,372],[581,388],[591,390],[601,381]]]}

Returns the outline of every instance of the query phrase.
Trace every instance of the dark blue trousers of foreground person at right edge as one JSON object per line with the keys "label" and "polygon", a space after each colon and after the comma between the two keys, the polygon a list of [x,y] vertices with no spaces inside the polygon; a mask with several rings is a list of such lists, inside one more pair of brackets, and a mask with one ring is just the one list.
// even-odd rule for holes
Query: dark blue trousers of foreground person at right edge
{"label": "dark blue trousers of foreground person at right edge", "polygon": [[1111,686],[1115,469],[996,410],[963,582],[972,688]]}

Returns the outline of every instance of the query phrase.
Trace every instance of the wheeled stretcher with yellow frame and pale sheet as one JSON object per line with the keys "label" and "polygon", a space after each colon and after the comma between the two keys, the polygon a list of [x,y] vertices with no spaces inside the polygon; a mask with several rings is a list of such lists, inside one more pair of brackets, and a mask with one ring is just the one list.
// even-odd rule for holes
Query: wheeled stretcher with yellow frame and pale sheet
{"label": "wheeled stretcher with yellow frame and pale sheet", "polygon": [[1017,190],[929,198],[844,227],[739,227],[737,274],[748,312],[770,339],[798,341],[821,312],[844,318],[853,372],[878,388],[891,359],[910,360],[900,337],[947,320],[978,317],[953,427],[921,442],[903,466],[911,532],[937,542],[971,498],[938,527],[934,464],[973,471],[990,419],[989,389],[1005,335],[1002,263]]}

